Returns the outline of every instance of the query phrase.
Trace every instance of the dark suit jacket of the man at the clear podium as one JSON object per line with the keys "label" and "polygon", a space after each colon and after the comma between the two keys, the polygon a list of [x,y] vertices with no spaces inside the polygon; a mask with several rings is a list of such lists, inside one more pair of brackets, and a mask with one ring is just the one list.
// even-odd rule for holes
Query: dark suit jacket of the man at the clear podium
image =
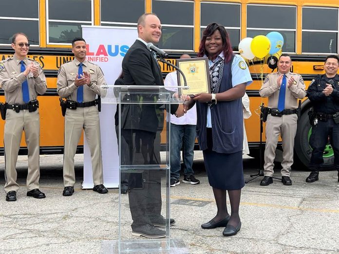
{"label": "dark suit jacket of the man at the clear podium", "polygon": [[[164,80],[157,60],[146,45],[136,40],[122,61],[125,85],[164,86]],[[154,91],[157,92],[157,91]],[[133,95],[133,100],[140,100]],[[138,97],[139,96],[139,97]],[[156,96],[156,95],[154,95]],[[152,100],[152,96],[148,96]],[[125,99],[127,97],[125,96]],[[143,98],[145,101],[145,98]],[[178,105],[171,105],[174,113]],[[122,112],[122,128],[157,132],[162,129],[164,110],[158,104],[128,104]]]}

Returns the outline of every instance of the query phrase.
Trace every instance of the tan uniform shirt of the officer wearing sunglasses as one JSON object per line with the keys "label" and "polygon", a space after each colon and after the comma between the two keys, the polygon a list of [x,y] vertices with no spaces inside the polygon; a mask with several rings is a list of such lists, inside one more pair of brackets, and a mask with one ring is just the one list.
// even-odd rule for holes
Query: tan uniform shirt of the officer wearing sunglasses
{"label": "tan uniform shirt of the officer wearing sunglasses", "polygon": [[[25,67],[31,65],[31,62],[39,65],[37,61],[30,58],[23,59]],[[38,94],[44,94],[47,91],[46,77],[41,67],[37,78],[34,78],[33,73],[30,72],[25,76],[21,72],[20,60],[16,55],[9,57],[0,62],[0,85],[5,91],[6,102],[9,104],[19,103],[25,104],[22,98],[22,82],[27,79],[29,99],[37,99]]]}

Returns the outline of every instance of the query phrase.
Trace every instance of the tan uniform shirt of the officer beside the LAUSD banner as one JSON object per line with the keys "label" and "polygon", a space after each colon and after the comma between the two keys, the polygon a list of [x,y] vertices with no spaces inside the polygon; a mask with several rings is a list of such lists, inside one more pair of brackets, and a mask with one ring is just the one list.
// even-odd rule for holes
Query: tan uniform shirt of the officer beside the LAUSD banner
{"label": "tan uniform shirt of the officer beside the LAUSD banner", "polygon": [[[106,89],[102,89],[100,86],[106,84],[106,81],[100,67],[87,60],[82,63],[82,71],[91,75],[90,86],[83,86],[84,102],[94,101],[96,94],[105,97]],[[60,97],[76,101],[78,87],[75,86],[75,77],[79,70],[79,64],[80,62],[75,58],[73,61],[61,65],[57,74],[57,93]]]}

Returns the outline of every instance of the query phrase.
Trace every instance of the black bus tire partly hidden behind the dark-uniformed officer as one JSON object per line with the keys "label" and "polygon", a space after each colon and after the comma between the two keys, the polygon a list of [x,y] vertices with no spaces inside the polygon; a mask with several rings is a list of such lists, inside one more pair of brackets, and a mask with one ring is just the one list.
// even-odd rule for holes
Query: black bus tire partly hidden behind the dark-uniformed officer
{"label": "black bus tire partly hidden behind the dark-uniformed officer", "polygon": [[[297,128],[297,134],[294,140],[294,160],[296,165],[301,165],[308,167],[309,162],[312,155],[312,148],[309,145],[309,136],[310,136],[310,129],[311,125],[308,120],[308,111],[309,109],[306,109],[301,114],[301,119],[298,122],[298,128]],[[331,147],[326,146],[326,151],[324,153],[323,159],[324,163],[321,165],[326,170],[329,170],[334,167],[334,156],[332,151],[331,153],[328,150]]]}

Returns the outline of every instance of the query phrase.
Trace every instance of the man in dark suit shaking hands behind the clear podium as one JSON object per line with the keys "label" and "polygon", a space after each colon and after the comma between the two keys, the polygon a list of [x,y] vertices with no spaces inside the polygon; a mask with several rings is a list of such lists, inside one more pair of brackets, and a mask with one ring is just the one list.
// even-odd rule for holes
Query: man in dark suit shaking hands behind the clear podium
{"label": "man in dark suit shaking hands behind the clear podium", "polygon": [[[154,14],[143,14],[138,20],[138,38],[122,61],[126,85],[164,86],[162,73],[156,56],[147,49],[147,43],[158,44],[161,23]],[[128,96],[132,96],[127,98]],[[142,170],[122,170],[128,173],[129,202],[132,214],[132,235],[148,238],[165,237],[166,232],[156,228],[165,227],[166,219],[161,216],[161,177],[166,170],[156,169],[160,164],[160,132],[164,122],[164,106],[145,104],[154,95],[126,95],[122,100],[143,101],[143,104],[124,104],[121,113],[121,164],[144,165]],[[128,99],[128,100],[127,100]],[[124,103],[124,102],[122,102]],[[172,105],[171,112],[184,115],[184,106]],[[124,147],[123,147],[124,146]],[[148,166],[146,166],[148,165]],[[152,166],[153,165],[153,166]],[[170,224],[174,224],[170,219]]]}

